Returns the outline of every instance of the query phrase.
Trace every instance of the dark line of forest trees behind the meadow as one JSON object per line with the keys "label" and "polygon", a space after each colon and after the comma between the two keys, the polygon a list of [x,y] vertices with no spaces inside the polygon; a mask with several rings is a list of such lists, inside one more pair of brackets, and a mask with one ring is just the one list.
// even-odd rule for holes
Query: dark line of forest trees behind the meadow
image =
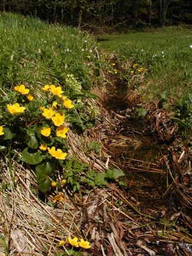
{"label": "dark line of forest trees behind the meadow", "polygon": [[192,0],[1,0],[0,10],[79,27],[192,23]]}

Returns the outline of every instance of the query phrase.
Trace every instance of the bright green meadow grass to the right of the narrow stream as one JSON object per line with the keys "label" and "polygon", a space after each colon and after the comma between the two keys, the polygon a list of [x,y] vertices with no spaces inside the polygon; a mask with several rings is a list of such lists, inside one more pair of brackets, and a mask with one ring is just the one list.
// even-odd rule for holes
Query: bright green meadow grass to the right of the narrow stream
{"label": "bright green meadow grass to the right of the narrow stream", "polygon": [[[166,95],[168,106],[191,92],[192,29],[163,28],[150,32],[102,35],[99,48],[116,52],[122,61],[147,68],[142,93],[147,100]],[[127,70],[129,76],[131,70]]]}

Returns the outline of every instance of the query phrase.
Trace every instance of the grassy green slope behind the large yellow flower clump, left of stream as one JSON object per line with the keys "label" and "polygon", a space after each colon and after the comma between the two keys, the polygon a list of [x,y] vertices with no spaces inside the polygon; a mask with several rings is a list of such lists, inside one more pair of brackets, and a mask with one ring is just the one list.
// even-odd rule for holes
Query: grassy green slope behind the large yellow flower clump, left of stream
{"label": "grassy green slope behind the large yellow flower clump, left of stream", "polygon": [[74,74],[88,89],[88,56],[94,58],[95,44],[92,36],[75,28],[0,13],[0,86],[59,83],[65,88],[67,74]]}

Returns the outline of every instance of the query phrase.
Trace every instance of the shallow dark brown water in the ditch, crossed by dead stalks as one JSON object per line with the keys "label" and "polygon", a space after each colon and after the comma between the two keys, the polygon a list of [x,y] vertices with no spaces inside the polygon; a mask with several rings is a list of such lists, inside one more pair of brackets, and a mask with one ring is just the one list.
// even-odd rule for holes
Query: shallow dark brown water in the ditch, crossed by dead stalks
{"label": "shallow dark brown water in the ditch, crossed by dead stalks", "polygon": [[[162,196],[166,191],[166,168],[161,159],[167,145],[158,140],[157,134],[151,131],[147,118],[138,119],[136,108],[127,98],[128,88],[118,82],[109,88],[105,108],[111,115],[123,116],[116,124],[116,134],[106,143],[111,152],[111,160],[124,170],[130,193],[143,207],[159,208],[164,205]],[[139,199],[138,199],[139,198]]]}

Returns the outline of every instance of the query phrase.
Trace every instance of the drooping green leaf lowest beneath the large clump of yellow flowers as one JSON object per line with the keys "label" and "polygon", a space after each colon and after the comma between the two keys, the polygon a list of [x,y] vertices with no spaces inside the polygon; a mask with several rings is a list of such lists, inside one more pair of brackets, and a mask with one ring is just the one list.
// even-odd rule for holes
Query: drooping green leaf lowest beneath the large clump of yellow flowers
{"label": "drooping green leaf lowest beneath the large clump of yellow flowers", "polygon": [[43,193],[46,193],[51,186],[51,180],[49,178],[49,175],[51,175],[52,173],[52,167],[49,163],[45,163],[36,166],[35,170],[38,188]]}

